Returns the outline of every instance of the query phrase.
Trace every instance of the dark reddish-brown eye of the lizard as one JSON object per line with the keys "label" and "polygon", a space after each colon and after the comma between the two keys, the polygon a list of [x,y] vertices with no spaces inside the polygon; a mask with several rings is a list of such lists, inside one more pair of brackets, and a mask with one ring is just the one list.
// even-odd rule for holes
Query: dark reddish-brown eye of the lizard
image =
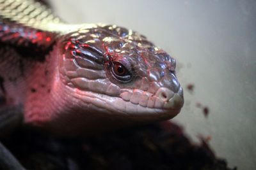
{"label": "dark reddish-brown eye of the lizard", "polygon": [[132,74],[128,69],[120,62],[113,62],[111,73],[118,81],[127,82],[132,78]]}

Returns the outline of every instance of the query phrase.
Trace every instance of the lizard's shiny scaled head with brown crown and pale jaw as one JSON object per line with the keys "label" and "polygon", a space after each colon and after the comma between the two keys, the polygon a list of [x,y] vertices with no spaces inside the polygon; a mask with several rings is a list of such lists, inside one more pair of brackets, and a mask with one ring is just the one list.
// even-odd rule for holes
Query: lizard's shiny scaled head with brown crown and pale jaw
{"label": "lizard's shiny scaled head with brown crown and pale jaw", "polygon": [[70,105],[63,120],[81,128],[137,124],[173,118],[182,108],[175,60],[138,32],[95,25],[65,34],[58,48]]}

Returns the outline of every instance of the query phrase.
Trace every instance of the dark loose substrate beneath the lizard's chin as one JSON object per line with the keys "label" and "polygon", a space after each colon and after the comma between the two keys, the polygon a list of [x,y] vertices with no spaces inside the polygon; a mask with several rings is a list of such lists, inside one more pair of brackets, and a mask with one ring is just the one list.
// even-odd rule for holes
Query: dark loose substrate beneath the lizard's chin
{"label": "dark loose substrate beneath the lizard's chin", "polygon": [[84,139],[20,130],[3,143],[27,169],[35,170],[230,169],[204,140],[193,145],[179,125],[170,122]]}

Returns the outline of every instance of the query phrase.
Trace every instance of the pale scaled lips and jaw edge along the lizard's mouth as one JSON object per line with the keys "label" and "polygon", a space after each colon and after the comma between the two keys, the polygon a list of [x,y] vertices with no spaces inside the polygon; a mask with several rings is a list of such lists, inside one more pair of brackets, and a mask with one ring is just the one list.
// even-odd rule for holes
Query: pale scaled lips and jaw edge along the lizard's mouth
{"label": "pale scaled lips and jaw edge along the lizard's mouth", "polygon": [[[183,90],[180,87],[178,92],[170,92],[171,96],[157,96],[142,90],[121,90],[120,96],[108,96],[95,92],[84,92],[76,90],[75,97],[83,103],[93,104],[96,110],[92,112],[105,112],[112,115],[131,115],[132,117],[175,117],[183,106]],[[97,110],[99,109],[99,110]]]}

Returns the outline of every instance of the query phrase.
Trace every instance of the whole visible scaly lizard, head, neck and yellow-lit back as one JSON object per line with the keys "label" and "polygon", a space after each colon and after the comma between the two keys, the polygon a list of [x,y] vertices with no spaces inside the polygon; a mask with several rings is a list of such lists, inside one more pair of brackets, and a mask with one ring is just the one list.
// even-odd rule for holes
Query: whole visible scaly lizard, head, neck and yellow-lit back
{"label": "whole visible scaly lizard, head, neck and yellow-lit back", "polygon": [[0,85],[24,123],[76,136],[179,113],[175,60],[145,36],[65,24],[40,3],[20,4],[0,1]]}

